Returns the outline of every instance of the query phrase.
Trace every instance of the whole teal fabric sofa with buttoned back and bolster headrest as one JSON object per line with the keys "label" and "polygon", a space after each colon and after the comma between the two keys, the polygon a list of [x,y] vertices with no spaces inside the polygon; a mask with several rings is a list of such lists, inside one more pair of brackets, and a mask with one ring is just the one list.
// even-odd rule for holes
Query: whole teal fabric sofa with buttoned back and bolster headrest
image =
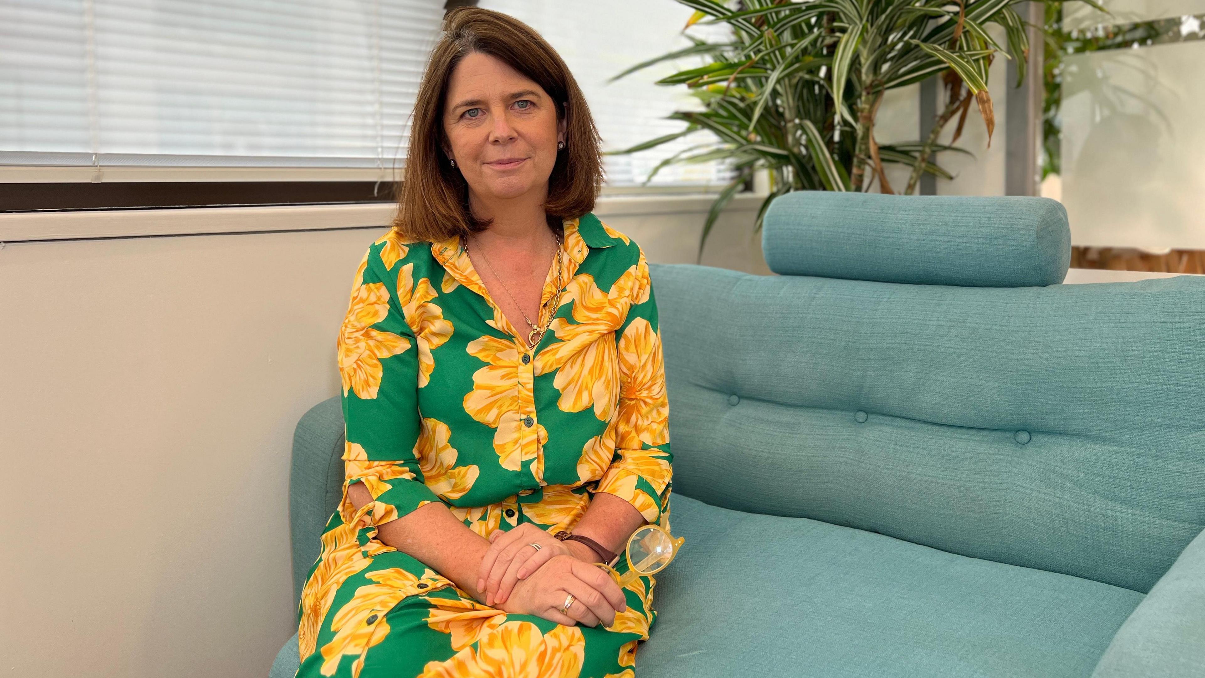
{"label": "whole teal fabric sofa with buttoned back and bolster headrest", "polygon": [[789,193],[762,238],[778,275],[652,267],[686,544],[637,676],[1205,676],[1205,277],[1062,285],[1040,198]]}

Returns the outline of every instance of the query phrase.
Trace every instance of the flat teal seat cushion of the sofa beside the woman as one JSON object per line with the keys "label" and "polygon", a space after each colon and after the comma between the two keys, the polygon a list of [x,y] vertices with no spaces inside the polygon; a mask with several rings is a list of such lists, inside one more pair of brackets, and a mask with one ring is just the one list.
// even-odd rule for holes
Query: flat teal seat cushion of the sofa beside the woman
{"label": "flat teal seat cushion of the sofa beside the woman", "polygon": [[670,499],[686,537],[648,678],[1087,677],[1142,594],[819,522]]}

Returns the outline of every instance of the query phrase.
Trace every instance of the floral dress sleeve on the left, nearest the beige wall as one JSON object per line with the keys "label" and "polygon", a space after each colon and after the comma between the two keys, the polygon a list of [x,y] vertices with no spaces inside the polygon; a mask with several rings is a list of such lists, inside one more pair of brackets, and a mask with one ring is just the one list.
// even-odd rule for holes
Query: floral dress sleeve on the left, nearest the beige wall
{"label": "floral dress sleeve on the left, nearest the beige wall", "polygon": [[345,522],[357,519],[347,497],[355,483],[363,483],[374,499],[359,512],[368,516],[368,525],[389,522],[439,501],[423,481],[416,454],[422,431],[419,350],[398,299],[398,274],[389,273],[381,256],[387,246],[388,241],[378,240],[360,262],[339,335],[347,434],[340,505]]}

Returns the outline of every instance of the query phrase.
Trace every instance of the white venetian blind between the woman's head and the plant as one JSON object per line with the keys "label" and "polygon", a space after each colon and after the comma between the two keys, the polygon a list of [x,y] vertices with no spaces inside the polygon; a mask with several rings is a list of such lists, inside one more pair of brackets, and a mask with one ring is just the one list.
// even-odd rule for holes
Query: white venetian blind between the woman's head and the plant
{"label": "white venetian blind between the woman's head and the plant", "polygon": [[[522,21],[552,45],[586,94],[604,150],[681,131],[686,122],[664,117],[676,110],[704,110],[684,84],[653,84],[678,70],[704,65],[700,57],[660,63],[606,83],[635,64],[689,47],[682,27],[693,10],[684,5],[671,0],[478,0],[477,6]],[[723,24],[690,28],[692,35],[709,42],[723,41],[725,30]],[[637,185],[663,159],[709,141],[717,141],[712,133],[696,131],[639,153],[606,156],[607,185]],[[662,168],[649,186],[723,186],[731,177],[728,163],[675,164]]]}

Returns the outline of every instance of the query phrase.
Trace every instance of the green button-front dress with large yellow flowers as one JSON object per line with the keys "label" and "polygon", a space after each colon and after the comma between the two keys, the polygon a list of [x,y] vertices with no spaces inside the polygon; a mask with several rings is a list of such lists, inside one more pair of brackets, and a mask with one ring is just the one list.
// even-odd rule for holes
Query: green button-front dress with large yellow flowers
{"label": "green button-front dress with large yellow flowers", "polygon": [[[669,527],[672,455],[645,255],[593,214],[564,220],[556,318],[528,352],[457,238],[389,230],[355,271],[339,337],[347,443],[339,509],[299,606],[298,676],[631,678],[652,577],[610,627],[482,604],[377,526],[443,502],[489,537],[572,530],[595,492]],[[359,510],[347,487],[374,501]],[[621,559],[618,569],[627,569]]]}

